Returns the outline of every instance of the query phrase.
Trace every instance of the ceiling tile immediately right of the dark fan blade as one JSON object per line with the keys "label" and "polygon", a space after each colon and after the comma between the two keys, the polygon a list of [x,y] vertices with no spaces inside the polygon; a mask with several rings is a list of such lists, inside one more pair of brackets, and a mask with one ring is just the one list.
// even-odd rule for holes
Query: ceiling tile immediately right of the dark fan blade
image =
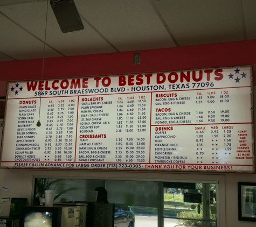
{"label": "ceiling tile immediately right of the dark fan blade", "polygon": [[119,51],[175,47],[148,0],[76,0],[75,4]]}

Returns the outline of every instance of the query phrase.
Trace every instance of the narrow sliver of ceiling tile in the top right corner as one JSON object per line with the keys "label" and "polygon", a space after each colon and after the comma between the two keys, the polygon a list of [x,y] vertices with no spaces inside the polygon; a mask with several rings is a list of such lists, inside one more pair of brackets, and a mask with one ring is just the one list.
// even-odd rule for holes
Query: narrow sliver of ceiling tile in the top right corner
{"label": "narrow sliver of ceiling tile in the top right corner", "polygon": [[256,39],[256,1],[243,0],[245,27],[248,39]]}

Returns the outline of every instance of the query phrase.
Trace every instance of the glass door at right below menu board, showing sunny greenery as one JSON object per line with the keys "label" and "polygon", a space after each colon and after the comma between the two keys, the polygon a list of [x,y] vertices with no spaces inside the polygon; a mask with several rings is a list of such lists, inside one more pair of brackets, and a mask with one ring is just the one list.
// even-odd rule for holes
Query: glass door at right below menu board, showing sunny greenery
{"label": "glass door at right below menu board, showing sunny greenery", "polygon": [[[158,227],[217,227],[218,184],[162,183]],[[161,198],[160,198],[161,199]]]}

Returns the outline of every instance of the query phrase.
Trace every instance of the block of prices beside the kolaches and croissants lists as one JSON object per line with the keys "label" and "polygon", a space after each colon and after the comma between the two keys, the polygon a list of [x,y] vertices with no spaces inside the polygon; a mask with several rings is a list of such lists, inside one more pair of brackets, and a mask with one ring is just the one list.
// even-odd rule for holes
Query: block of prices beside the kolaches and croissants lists
{"label": "block of prices beside the kolaches and croissants lists", "polygon": [[149,162],[151,94],[117,96],[116,162]]}

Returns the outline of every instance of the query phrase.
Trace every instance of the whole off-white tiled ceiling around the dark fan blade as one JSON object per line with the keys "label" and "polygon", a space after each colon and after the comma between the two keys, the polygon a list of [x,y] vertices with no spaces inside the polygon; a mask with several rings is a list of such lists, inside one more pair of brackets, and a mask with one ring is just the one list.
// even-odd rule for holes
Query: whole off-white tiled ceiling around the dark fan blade
{"label": "whole off-white tiled ceiling around the dark fan blade", "polygon": [[[49,4],[45,58],[256,39],[255,0],[74,0],[84,30]],[[0,0],[0,61],[44,56],[46,0]]]}

